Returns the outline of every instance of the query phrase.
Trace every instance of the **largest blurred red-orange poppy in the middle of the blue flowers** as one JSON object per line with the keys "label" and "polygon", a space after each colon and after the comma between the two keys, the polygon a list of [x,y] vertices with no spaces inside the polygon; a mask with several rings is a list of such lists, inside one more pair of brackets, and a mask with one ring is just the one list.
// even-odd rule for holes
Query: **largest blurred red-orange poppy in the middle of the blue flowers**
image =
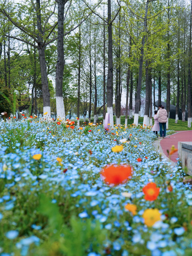
{"label": "largest blurred red-orange poppy in the middle of the blue flowers", "polygon": [[107,184],[119,185],[130,179],[132,167],[130,165],[107,165],[101,170],[101,177]]}

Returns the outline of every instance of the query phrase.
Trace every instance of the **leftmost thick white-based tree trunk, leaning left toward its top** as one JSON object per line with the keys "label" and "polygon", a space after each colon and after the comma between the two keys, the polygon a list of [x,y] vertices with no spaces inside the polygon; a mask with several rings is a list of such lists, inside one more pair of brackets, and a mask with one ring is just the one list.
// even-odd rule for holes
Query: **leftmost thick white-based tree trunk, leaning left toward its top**
{"label": "leftmost thick white-based tree trunk, leaning left toward its top", "polygon": [[37,14],[37,28],[38,28],[38,52],[39,52],[39,63],[41,69],[41,84],[43,93],[43,112],[47,114],[44,115],[46,119],[51,117],[51,107],[50,107],[50,93],[47,80],[47,69],[45,61],[45,46],[43,43],[44,33],[41,24],[41,5],[40,0],[36,0],[36,14]]}

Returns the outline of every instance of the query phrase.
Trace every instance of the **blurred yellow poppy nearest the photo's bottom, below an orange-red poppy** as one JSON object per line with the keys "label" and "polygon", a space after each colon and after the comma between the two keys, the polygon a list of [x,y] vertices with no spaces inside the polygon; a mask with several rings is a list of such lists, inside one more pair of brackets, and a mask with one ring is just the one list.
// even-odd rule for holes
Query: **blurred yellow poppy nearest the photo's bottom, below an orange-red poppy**
{"label": "blurred yellow poppy nearest the photo's bottom, below an orange-red poppy", "polygon": [[152,227],[155,222],[161,220],[161,213],[158,209],[146,209],[143,212],[144,223],[148,227]]}

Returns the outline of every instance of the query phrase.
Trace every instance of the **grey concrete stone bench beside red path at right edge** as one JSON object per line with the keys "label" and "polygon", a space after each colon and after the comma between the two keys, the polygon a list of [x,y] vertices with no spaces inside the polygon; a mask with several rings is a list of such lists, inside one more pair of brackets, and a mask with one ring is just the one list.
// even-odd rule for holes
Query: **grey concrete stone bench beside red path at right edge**
{"label": "grey concrete stone bench beside red path at right edge", "polygon": [[192,142],[178,142],[178,157],[182,168],[187,167],[186,173],[192,176]]}

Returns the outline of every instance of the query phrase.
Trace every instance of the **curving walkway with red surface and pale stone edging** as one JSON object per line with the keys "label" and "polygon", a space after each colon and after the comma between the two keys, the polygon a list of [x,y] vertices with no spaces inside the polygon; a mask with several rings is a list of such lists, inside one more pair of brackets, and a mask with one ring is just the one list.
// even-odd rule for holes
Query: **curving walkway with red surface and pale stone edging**
{"label": "curving walkway with red surface and pale stone edging", "polygon": [[178,148],[179,141],[192,141],[192,131],[176,131],[176,133],[172,135],[166,135],[166,138],[155,140],[155,146],[163,157],[175,164],[177,162],[176,158],[178,158],[178,152],[175,152],[169,157],[167,149],[170,152],[172,145],[174,145],[175,148]]}

